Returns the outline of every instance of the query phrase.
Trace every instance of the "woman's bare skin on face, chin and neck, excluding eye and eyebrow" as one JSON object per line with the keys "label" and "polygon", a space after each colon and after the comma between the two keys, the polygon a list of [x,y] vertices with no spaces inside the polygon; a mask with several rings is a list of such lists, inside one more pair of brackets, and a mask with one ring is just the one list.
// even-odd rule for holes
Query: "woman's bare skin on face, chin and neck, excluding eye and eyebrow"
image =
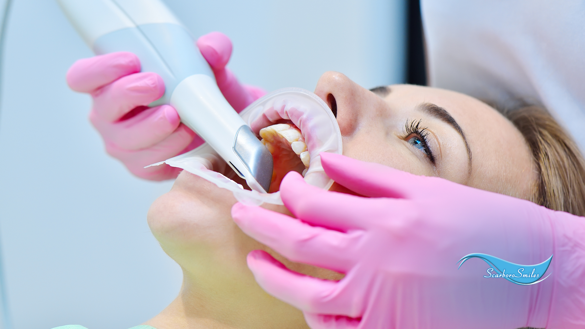
{"label": "woman's bare skin on face, chin and neck, excluding eye and eyebrow", "polygon": [[[524,138],[493,108],[457,92],[392,85],[375,94],[340,73],[325,73],[315,94],[332,106],[343,136],[343,154],[406,172],[439,176],[479,189],[528,198],[536,180]],[[421,104],[444,108],[466,136],[425,111]],[[422,120],[434,164],[415,148],[405,132],[409,120]],[[332,190],[350,192],[340,186]],[[424,191],[421,191],[423,193]],[[228,190],[183,172],[170,192],[150,208],[148,220],[164,251],[184,272],[176,300],[146,324],[170,328],[307,328],[301,311],[269,296],[254,281],[246,255],[270,253],[296,272],[339,280],[331,270],[292,263],[247,237],[230,216],[235,198]],[[264,205],[291,215],[283,206]]]}

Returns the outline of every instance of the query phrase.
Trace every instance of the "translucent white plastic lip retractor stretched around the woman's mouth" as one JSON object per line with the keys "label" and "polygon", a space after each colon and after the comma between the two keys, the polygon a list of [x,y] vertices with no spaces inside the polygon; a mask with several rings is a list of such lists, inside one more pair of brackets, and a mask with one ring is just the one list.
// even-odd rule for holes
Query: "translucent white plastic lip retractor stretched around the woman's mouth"
{"label": "translucent white plastic lip retractor stretched around the woman's mouth", "polygon": [[[283,88],[259,98],[240,112],[240,116],[257,136],[262,128],[290,120],[300,129],[307,145],[310,160],[304,174],[305,181],[325,190],[331,187],[333,180],[325,174],[319,153],[342,154],[342,139],[335,116],[321,98],[301,88]],[[187,170],[222,189],[232,191],[236,200],[243,204],[283,204],[280,192],[259,193],[245,190],[242,185],[221,174],[228,165],[207,143],[150,166],[163,163]]]}

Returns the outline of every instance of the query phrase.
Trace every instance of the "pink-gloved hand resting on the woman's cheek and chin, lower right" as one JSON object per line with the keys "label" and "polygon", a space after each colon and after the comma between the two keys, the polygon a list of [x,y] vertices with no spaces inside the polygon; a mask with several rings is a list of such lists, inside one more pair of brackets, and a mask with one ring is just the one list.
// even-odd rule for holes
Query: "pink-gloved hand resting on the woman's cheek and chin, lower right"
{"label": "pink-gloved hand resting on the woman's cheek and chin, lower right", "polygon": [[[363,196],[324,191],[295,172],[280,193],[298,219],[235,204],[242,230],[294,262],[345,273],[339,282],[291,272],[266,252],[248,266],[271,295],[320,328],[584,328],[585,218],[525,200],[321,153],[325,172]],[[369,197],[369,198],[368,198]],[[483,277],[469,253],[534,265],[529,286]]]}

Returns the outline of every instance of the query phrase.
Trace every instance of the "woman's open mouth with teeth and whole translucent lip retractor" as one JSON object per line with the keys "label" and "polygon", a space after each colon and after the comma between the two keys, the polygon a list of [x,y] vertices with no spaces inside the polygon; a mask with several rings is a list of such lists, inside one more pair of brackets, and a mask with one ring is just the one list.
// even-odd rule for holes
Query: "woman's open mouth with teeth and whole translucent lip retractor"
{"label": "woman's open mouth with teeth and whole translucent lip retractor", "polygon": [[240,116],[273,156],[269,193],[244,189],[243,181],[207,143],[155,165],[180,167],[232,191],[246,204],[283,204],[280,193],[275,192],[292,170],[302,174],[308,184],[331,187],[333,180],[325,173],[319,154],[342,154],[342,138],[332,108],[321,98],[301,88],[284,88],[253,102]]}

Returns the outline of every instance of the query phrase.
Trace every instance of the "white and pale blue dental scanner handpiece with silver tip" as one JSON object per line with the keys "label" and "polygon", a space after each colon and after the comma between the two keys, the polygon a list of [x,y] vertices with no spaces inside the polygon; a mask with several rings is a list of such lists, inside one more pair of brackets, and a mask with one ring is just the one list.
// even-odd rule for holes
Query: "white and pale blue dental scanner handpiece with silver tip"
{"label": "white and pale blue dental scanner handpiece with silver tip", "polygon": [[131,52],[142,71],[159,74],[166,91],[150,105],[173,105],[252,189],[268,192],[272,155],[225,100],[191,34],[160,0],[57,2],[95,54]]}

